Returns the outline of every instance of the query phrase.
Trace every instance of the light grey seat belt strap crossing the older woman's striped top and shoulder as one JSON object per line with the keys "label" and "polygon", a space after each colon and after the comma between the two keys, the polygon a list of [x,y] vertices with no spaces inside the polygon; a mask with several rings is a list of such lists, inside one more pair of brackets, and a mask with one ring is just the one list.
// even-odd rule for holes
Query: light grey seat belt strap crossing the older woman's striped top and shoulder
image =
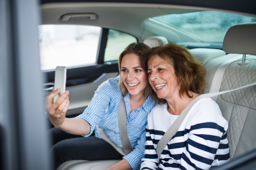
{"label": "light grey seat belt strap crossing the older woman's striped top and shoulder", "polygon": [[192,102],[190,102],[189,105],[187,105],[186,108],[180,113],[180,116],[178,116],[178,118],[175,120],[175,122],[172,124],[172,126],[166,131],[166,133],[163,135],[163,137],[157,143],[157,148],[156,149],[157,149],[158,163],[159,163],[160,155],[163,152],[163,149],[166,147],[168,142],[175,135],[175,133],[177,132],[177,130],[180,127],[180,124],[183,122],[184,118],[186,117],[187,113],[193,107],[193,105],[196,102],[198,102],[198,100],[203,99],[203,98],[207,98],[207,97],[218,96],[220,94],[225,94],[225,93],[228,93],[228,92],[231,92],[231,91],[236,91],[236,90],[239,90],[241,88],[247,88],[247,87],[250,87],[250,86],[253,86],[253,85],[256,85],[256,82],[251,83],[249,85],[245,85],[245,86],[240,87],[240,88],[233,89],[233,90],[202,94],[202,95],[198,96],[197,98],[195,98],[194,100],[192,100]]}

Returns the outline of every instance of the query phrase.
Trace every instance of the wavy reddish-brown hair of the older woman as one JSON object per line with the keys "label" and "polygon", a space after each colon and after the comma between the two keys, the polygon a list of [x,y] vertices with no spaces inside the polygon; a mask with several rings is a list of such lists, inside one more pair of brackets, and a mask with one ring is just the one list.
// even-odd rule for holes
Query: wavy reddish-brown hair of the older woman
{"label": "wavy reddish-brown hair of the older woman", "polygon": [[[187,48],[175,43],[151,48],[143,54],[141,60],[143,69],[148,69],[148,60],[155,55],[165,59],[173,66],[180,85],[180,97],[186,94],[186,96],[192,98],[193,95],[189,94],[189,91],[197,94],[204,93],[207,85],[206,69],[200,61],[192,56]],[[151,95],[158,104],[166,103],[166,99],[159,99],[153,89],[151,89]]]}

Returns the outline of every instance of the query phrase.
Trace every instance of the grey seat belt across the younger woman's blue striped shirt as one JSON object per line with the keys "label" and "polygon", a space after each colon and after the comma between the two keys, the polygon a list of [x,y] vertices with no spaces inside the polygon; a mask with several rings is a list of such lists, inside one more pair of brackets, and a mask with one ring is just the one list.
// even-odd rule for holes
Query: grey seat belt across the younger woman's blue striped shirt
{"label": "grey seat belt across the younger woman's blue striped shirt", "polygon": [[123,156],[127,155],[128,153],[130,153],[132,151],[131,143],[129,141],[128,134],[127,134],[126,121],[127,121],[127,112],[126,112],[124,97],[122,96],[120,104],[118,106],[118,125],[119,125],[119,133],[120,133],[120,138],[121,138],[123,148],[116,146],[116,144],[114,144],[114,142],[112,142],[108,138],[108,136],[105,134],[104,130],[102,128],[99,128],[98,125],[96,126],[100,136],[102,136],[102,138],[106,142],[111,144],[116,149],[116,151],[119,152]]}

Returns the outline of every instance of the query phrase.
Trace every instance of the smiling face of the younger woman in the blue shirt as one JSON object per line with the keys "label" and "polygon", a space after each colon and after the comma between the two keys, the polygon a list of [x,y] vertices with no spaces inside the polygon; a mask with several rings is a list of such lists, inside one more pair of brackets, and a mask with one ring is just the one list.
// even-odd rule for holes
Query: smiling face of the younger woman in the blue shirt
{"label": "smiling face of the younger woman in the blue shirt", "polygon": [[139,56],[126,54],[122,57],[121,79],[130,95],[143,95],[143,91],[148,85],[148,76],[141,67]]}

